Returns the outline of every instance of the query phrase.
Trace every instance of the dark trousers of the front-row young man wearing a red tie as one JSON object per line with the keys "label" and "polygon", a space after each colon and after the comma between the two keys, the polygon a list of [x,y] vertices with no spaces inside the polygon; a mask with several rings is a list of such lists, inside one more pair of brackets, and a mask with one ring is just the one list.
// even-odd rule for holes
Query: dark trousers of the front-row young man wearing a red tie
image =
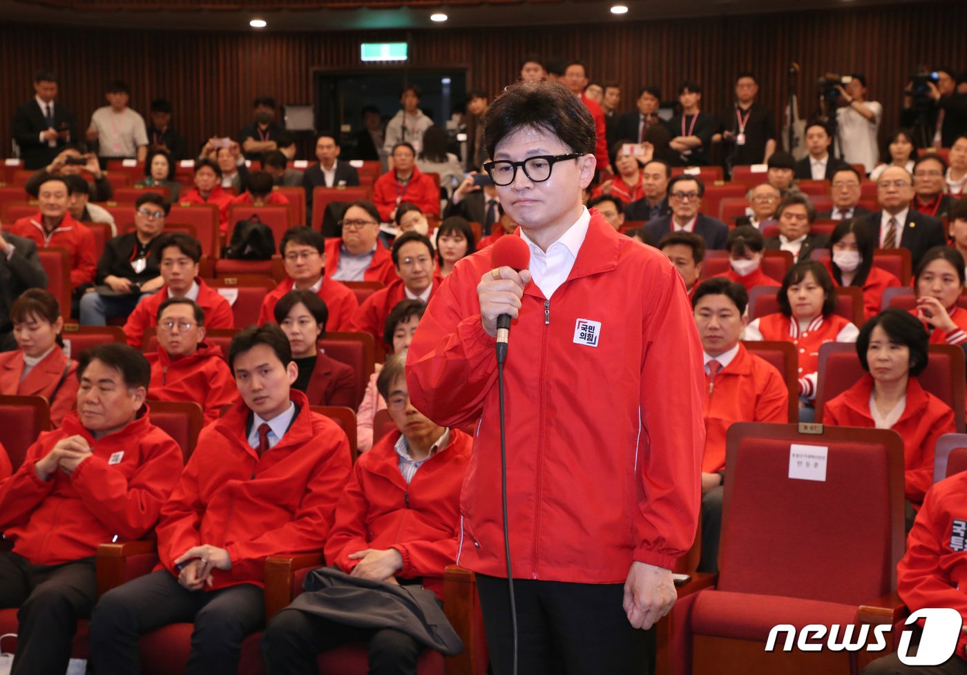
{"label": "dark trousers of the front-row young man wearing a red tie", "polygon": [[138,637],[183,622],[194,623],[186,675],[235,675],[242,640],[265,622],[265,594],[250,583],[216,591],[189,591],[167,570],[133,579],[105,593],[94,609],[94,672],[141,672]]}

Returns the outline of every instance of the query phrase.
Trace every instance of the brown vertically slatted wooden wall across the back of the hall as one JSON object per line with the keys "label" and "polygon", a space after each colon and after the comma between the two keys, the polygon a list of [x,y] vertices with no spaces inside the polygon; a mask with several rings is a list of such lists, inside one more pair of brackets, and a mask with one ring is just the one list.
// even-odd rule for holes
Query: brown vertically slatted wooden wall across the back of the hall
{"label": "brown vertically slatted wooden wall across the back of the hall", "polygon": [[[552,9],[552,6],[549,8]],[[499,10],[495,10],[499,11]],[[15,103],[32,96],[33,71],[60,73],[60,100],[81,127],[103,104],[103,86],[122,78],[132,86],[132,107],[169,98],[175,125],[190,148],[212,134],[234,135],[249,120],[250,101],[270,94],[279,102],[312,101],[312,69],[359,69],[359,42],[409,39],[414,68],[467,64],[470,86],[497,94],[516,76],[524,53],[582,58],[592,77],[618,80],[630,108],[637,89],[655,83],[670,98],[681,80],[704,85],[703,107],[717,111],[731,99],[739,70],[760,77],[760,99],[777,113],[786,96],[785,70],[802,67],[804,115],[815,107],[815,81],[827,70],[863,71],[872,98],[884,105],[883,133],[896,125],[906,76],[919,64],[967,70],[967,3],[840,9],[826,12],[721,16],[703,19],[517,29],[344,31],[326,33],[172,33],[0,26],[0,155],[8,155]],[[187,15],[190,20],[190,14]],[[377,67],[378,68],[378,67]],[[778,125],[777,115],[777,127]]]}

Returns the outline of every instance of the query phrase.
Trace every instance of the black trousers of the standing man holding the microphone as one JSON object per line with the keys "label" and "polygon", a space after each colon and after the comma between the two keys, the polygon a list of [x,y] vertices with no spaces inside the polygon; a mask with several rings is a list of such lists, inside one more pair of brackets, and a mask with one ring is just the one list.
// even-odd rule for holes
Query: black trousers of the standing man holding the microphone
{"label": "black trousers of the standing man holding the microphone", "polygon": [[[624,584],[514,579],[517,672],[520,675],[649,675],[655,629],[631,628],[622,608]],[[477,575],[494,675],[513,665],[507,579]]]}

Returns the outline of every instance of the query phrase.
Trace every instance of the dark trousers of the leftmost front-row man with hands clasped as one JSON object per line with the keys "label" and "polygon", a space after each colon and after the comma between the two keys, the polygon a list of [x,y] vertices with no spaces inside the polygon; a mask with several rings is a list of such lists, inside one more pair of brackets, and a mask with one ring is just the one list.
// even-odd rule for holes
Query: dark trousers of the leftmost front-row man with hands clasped
{"label": "dark trousers of the leftmost front-row man with hands clasped", "polygon": [[12,675],[64,675],[77,620],[98,599],[94,558],[64,565],[33,565],[0,553],[0,608],[19,607]]}

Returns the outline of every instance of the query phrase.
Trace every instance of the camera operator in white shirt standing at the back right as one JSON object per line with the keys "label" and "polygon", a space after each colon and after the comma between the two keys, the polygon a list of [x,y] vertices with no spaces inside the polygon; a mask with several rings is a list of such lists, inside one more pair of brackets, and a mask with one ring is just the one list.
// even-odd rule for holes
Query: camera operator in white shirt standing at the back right
{"label": "camera operator in white shirt standing at the back right", "polygon": [[877,135],[883,119],[879,101],[866,100],[866,77],[853,73],[843,78],[845,86],[836,84],[836,126],[839,130],[841,158],[850,164],[863,164],[868,174],[876,166],[880,151]]}

